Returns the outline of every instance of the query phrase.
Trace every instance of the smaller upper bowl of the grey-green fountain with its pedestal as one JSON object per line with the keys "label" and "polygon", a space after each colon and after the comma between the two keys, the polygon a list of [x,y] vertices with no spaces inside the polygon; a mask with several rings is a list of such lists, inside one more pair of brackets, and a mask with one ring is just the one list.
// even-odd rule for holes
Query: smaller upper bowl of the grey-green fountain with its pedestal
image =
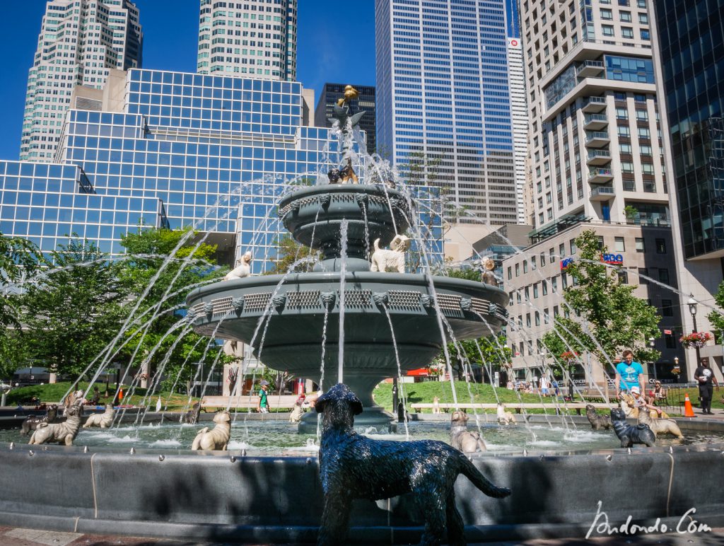
{"label": "smaller upper bowl of the grey-green fountain with its pedestal", "polygon": [[347,221],[348,271],[369,271],[374,241],[390,243],[408,229],[412,201],[384,185],[329,184],[298,190],[279,202],[279,217],[298,243],[321,251],[315,271],[340,271]]}

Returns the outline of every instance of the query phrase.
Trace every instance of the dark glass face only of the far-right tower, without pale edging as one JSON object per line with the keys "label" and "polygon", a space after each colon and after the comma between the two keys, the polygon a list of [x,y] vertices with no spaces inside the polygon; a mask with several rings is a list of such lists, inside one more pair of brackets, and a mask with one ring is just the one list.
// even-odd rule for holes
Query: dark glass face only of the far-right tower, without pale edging
{"label": "dark glass face only of the far-right tower, without pale edging", "polygon": [[656,3],[686,259],[724,256],[724,0]]}

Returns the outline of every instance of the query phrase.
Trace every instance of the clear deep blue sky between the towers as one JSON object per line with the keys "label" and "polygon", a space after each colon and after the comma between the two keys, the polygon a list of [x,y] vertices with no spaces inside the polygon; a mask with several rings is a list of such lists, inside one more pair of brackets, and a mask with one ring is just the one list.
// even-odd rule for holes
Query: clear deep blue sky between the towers
{"label": "clear deep blue sky between the towers", "polygon": [[[196,71],[198,0],[136,0],[143,27],[143,68]],[[298,0],[297,80],[374,85],[374,0]],[[20,157],[22,111],[45,0],[3,1],[0,51],[0,160]]]}

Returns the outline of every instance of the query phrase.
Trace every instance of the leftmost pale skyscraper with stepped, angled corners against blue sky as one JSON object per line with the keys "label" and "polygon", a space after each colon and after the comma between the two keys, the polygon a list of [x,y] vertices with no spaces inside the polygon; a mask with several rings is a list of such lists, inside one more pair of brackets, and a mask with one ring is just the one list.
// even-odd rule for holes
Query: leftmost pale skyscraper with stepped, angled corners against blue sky
{"label": "leftmost pale skyscraper with stepped, angled corners against blue sky", "polygon": [[73,88],[102,88],[109,69],[140,67],[142,42],[130,0],[49,0],[28,71],[20,159],[52,161]]}

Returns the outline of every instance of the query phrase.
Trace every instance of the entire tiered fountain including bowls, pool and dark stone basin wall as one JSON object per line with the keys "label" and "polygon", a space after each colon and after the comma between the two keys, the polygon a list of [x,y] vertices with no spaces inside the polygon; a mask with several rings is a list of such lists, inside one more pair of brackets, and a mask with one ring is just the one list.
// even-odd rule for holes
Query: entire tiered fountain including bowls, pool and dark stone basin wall
{"label": "entire tiered fountain including bowls, pool and dark stone basin wall", "polygon": [[[432,276],[429,269],[371,271],[369,250],[411,227],[416,203],[383,177],[376,184],[354,172],[350,143],[358,115],[344,103],[335,112],[342,156],[329,169],[333,183],[299,188],[279,202],[279,218],[295,240],[321,252],[314,271],[198,288],[188,296],[190,322],[182,327],[244,341],[272,368],[316,379],[325,389],[345,382],[365,406],[356,424],[379,430],[391,416],[374,406],[376,382],[429,363],[450,340],[499,329],[508,296],[490,284]],[[359,179],[366,183],[355,183]],[[351,183],[337,183],[342,180]],[[22,419],[0,416],[0,424],[7,419],[16,428],[0,434],[0,524],[199,542],[316,541],[322,492],[315,446],[306,445],[312,437],[286,434],[293,441],[282,449],[265,448],[264,440],[276,441],[291,426],[273,415],[246,414],[243,424],[232,419],[227,451],[191,451],[203,424],[180,425],[176,415],[159,425],[164,416],[156,413],[139,427],[129,425],[135,416],[127,417],[111,429],[81,429],[75,445],[59,446],[25,445],[17,430]],[[627,451],[616,449],[613,433],[599,431],[588,432],[594,442],[581,450],[570,440],[586,434],[576,437],[568,427],[586,418],[556,419],[565,426],[552,427],[548,416],[523,416],[541,440],[507,449],[495,445],[513,444],[509,431],[518,427],[483,427],[489,451],[471,461],[513,494],[489,503],[466,480],[456,482],[468,539],[584,537],[601,511],[611,526],[629,516],[657,529],[676,529],[683,521],[680,528],[689,532],[690,518],[724,524],[720,422],[680,421],[687,437],[696,435],[693,443],[657,441],[657,447]],[[417,438],[449,440],[446,415],[420,421],[412,424]],[[300,424],[302,432],[313,428],[316,419]],[[139,431],[150,439],[138,442]],[[174,440],[169,432],[178,433]],[[547,450],[548,433],[557,434],[558,450]],[[646,484],[647,495],[631,495],[634,482]],[[417,542],[422,529],[408,500],[355,501],[350,542]]]}

